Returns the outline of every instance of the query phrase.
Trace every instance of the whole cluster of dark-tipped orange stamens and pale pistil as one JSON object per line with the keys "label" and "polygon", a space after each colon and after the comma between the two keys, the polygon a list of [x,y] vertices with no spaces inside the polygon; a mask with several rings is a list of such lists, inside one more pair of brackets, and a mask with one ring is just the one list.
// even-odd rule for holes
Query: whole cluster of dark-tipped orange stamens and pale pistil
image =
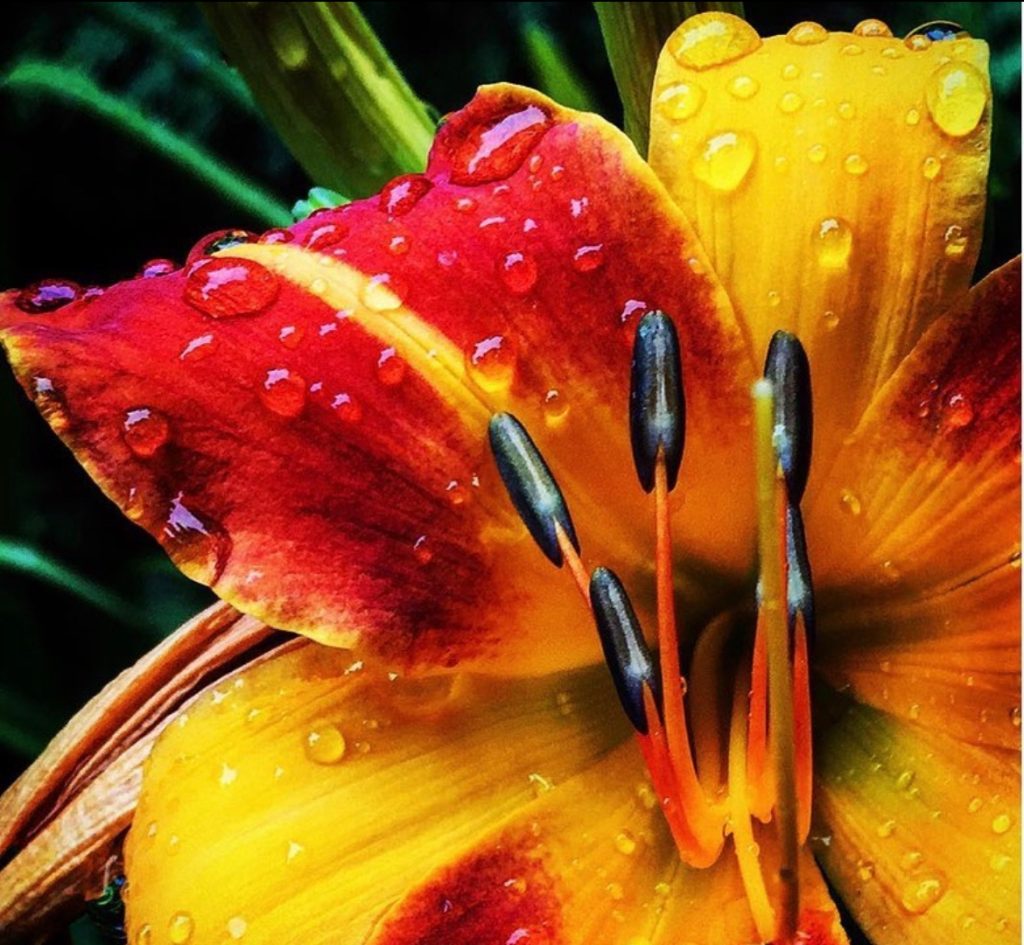
{"label": "whole cluster of dark-tipped orange stamens and pale pistil", "polygon": [[[588,575],[568,507],[526,430],[511,415],[498,414],[490,445],[530,534],[552,563],[568,565],[593,613],[680,858],[710,866],[731,835],[759,933],[764,941],[787,942],[796,935],[800,848],[811,818],[808,650],[814,602],[800,510],[811,457],[810,371],[799,340],[777,332],[764,377],[752,391],[757,616],[753,640],[746,635],[749,658],[736,660],[735,668],[723,658],[741,630],[730,614],[709,626],[692,653],[680,647],[685,638],[676,612],[671,512],[683,456],[682,381],[672,319],[662,312],[645,315],[633,352],[630,433],[640,484],[653,498],[656,661],[623,583],[603,567]],[[774,827],[771,870],[755,840],[767,828],[755,820]]]}

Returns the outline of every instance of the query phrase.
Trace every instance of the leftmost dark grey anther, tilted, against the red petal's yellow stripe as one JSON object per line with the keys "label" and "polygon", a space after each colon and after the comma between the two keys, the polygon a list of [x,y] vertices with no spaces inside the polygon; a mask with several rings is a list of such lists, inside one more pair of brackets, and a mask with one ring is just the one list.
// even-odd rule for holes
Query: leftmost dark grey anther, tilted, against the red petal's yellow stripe
{"label": "leftmost dark grey anther, tilted, against the red petal's yellow stripe", "polygon": [[495,414],[488,427],[490,449],[509,498],[534,541],[549,560],[562,566],[559,530],[580,551],[568,506],[548,464],[525,428],[511,414]]}

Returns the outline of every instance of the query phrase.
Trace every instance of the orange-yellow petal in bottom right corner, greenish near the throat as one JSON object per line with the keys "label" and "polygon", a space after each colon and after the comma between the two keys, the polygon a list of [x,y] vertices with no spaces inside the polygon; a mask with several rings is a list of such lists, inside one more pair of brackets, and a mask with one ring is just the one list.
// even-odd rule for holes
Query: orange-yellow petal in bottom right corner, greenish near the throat
{"label": "orange-yellow petal in bottom right corner, greenish near the throat", "polygon": [[818,759],[822,865],[872,942],[1020,937],[1017,753],[850,705]]}

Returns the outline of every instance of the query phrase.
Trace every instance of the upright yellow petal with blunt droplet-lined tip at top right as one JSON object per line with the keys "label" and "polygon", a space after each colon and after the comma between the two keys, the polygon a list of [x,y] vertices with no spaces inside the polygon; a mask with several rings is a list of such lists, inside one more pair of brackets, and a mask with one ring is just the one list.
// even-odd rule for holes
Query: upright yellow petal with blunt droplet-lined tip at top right
{"label": "upright yellow petal with blunt droplet-lined tip at top right", "polygon": [[987,61],[972,39],[910,49],[806,24],[762,42],[724,13],[687,20],[662,52],[650,163],[729,287],[755,357],[776,329],[804,341],[819,443],[967,291]]}

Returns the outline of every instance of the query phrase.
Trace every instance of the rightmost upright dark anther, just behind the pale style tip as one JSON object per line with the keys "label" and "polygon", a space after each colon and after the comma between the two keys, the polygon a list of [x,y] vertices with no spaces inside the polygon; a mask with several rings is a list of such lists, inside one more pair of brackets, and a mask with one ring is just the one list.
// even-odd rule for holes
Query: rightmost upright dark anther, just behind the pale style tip
{"label": "rightmost upright dark anther, just behind the pale style tip", "polygon": [[772,439],[785,474],[790,501],[797,505],[804,496],[811,469],[813,415],[811,369],[807,352],[796,335],[776,332],[768,345],[765,378],[774,391]]}

